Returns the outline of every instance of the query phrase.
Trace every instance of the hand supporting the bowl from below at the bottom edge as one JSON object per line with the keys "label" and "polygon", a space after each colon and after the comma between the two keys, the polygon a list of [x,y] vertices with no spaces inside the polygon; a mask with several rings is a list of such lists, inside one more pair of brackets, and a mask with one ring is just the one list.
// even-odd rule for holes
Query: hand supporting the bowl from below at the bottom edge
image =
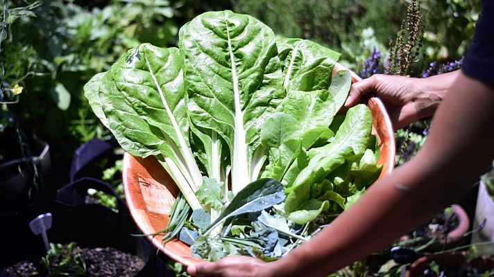
{"label": "hand supporting the bowl from below at the bottom edge", "polygon": [[248,256],[230,256],[217,262],[201,262],[190,265],[187,273],[191,276],[221,277],[268,277],[269,264]]}

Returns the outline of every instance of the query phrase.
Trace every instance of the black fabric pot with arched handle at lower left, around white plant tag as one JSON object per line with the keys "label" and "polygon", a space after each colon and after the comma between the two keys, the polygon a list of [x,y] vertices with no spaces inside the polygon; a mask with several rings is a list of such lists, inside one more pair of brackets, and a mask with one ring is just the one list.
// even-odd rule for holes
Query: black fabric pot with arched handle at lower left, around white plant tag
{"label": "black fabric pot with arched handle at lower left, around white plant tag", "polygon": [[144,238],[132,235],[139,231],[121,199],[119,213],[99,204],[71,204],[77,199],[74,196],[80,197],[87,188],[114,194],[101,181],[83,178],[62,188],[56,201],[32,204],[0,215],[0,269],[46,254],[41,236],[31,233],[28,224],[40,214],[51,213],[53,224],[47,231],[50,242],[76,242],[81,248],[113,247],[132,253],[146,263],[135,276],[156,276],[155,248]]}

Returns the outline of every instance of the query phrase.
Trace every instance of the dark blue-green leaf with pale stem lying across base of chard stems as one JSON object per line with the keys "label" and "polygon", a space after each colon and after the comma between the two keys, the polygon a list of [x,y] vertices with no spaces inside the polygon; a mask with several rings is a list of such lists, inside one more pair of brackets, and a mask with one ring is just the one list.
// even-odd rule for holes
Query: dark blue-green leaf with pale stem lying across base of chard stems
{"label": "dark blue-green leaf with pale stem lying across base of chard stems", "polygon": [[240,190],[221,215],[212,222],[205,234],[225,220],[244,213],[253,213],[281,203],[285,198],[283,185],[274,179],[259,179]]}

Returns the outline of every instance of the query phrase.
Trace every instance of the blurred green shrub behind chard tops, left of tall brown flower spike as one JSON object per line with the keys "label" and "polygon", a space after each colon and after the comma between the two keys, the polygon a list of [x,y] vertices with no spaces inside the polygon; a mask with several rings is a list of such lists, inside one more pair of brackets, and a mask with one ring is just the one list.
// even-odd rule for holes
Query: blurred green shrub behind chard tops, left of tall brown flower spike
{"label": "blurred green shrub behind chard tops, left of tall brown flower spike", "polygon": [[[235,12],[246,13],[285,37],[312,39],[355,60],[362,51],[361,30],[373,27],[377,42],[387,45],[400,27],[405,6],[400,1],[234,0]],[[372,50],[372,49],[369,49]]]}

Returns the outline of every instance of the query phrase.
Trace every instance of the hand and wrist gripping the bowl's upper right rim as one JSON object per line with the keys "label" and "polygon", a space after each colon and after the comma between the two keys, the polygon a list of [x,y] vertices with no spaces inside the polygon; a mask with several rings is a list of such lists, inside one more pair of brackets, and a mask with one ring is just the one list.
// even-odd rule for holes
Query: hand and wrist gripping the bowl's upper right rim
{"label": "hand and wrist gripping the bowl's upper right rim", "polygon": [[432,116],[455,75],[453,72],[425,79],[373,75],[352,84],[345,107],[352,107],[366,95],[375,93],[384,102],[393,128],[399,129]]}

